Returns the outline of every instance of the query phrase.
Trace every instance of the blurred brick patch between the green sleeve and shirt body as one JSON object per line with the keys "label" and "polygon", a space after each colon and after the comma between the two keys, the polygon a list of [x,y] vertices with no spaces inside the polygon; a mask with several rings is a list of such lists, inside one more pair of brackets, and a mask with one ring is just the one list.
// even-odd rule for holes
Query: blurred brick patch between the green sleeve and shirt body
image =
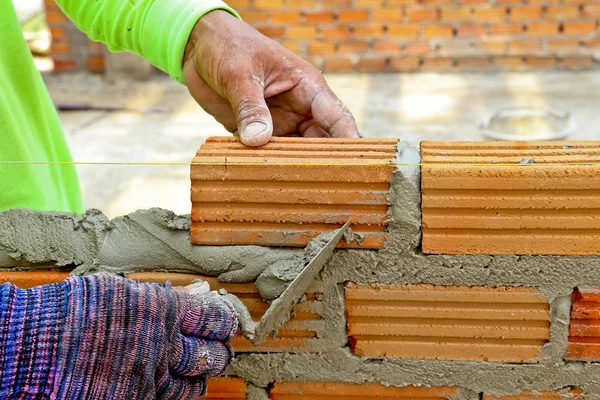
{"label": "blurred brick patch between the green sleeve and shirt body", "polygon": [[104,72],[106,46],[79,31],[54,0],[44,0],[44,7],[52,36],[49,55],[54,62],[54,71]]}

